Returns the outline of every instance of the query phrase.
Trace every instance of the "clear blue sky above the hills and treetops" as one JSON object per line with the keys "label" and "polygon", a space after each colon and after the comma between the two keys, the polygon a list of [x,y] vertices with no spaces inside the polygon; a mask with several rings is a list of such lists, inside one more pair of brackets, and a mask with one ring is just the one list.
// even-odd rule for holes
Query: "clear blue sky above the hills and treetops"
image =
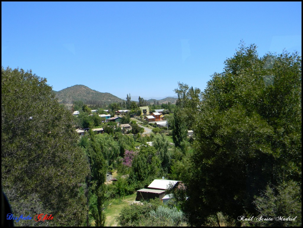
{"label": "clear blue sky above the hills and treetops", "polygon": [[2,2],[1,64],[32,69],[59,91],[82,84],[125,99],[205,89],[252,43],[298,51],[301,2]]}

